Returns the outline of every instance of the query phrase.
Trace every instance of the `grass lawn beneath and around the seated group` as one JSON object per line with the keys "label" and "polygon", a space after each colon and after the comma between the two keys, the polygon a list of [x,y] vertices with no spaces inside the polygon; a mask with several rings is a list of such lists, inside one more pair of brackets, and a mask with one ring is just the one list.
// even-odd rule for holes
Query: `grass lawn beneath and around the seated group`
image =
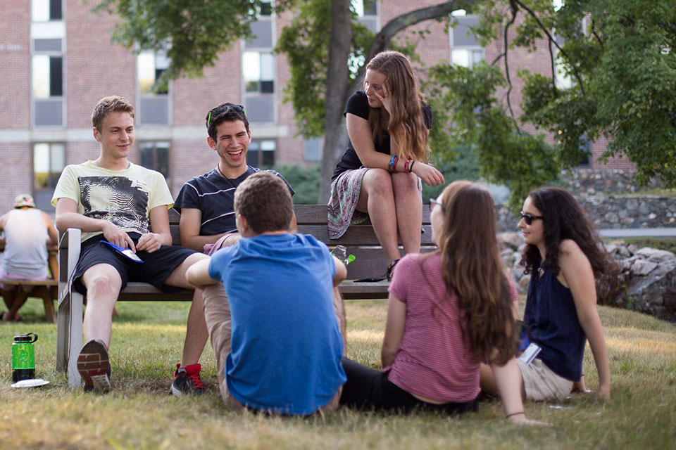
{"label": "grass lawn beneath and around the seated group", "polygon": [[[269,418],[227,411],[220,399],[213,351],[203,356],[208,394],[168,394],[180,359],[188,304],[118,304],[113,321],[113,392],[68,389],[56,373],[56,326],[31,299],[23,323],[0,325],[0,449],[676,449],[676,327],[632,311],[601,307],[611,361],[610,401],[575,394],[561,402],[527,402],[531,418],[551,428],[520,428],[499,401],[460,417],[386,416],[339,409],[327,418]],[[386,303],[346,302],[348,356],[380,368]],[[12,389],[11,342],[39,335],[37,389]],[[431,344],[433,345],[433,343]],[[598,383],[589,347],[587,386]]]}

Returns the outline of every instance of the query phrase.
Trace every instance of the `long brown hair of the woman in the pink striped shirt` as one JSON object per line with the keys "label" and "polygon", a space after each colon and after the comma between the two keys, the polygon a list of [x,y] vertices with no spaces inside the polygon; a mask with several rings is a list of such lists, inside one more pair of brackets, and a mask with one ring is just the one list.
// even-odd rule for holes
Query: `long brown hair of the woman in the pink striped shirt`
{"label": "long brown hair of the woman in the pink striped shirt", "polygon": [[465,342],[480,361],[505,364],[514,356],[516,331],[493,198],[477,184],[454,181],[444,189],[442,205],[438,251],[444,283],[458,296]]}

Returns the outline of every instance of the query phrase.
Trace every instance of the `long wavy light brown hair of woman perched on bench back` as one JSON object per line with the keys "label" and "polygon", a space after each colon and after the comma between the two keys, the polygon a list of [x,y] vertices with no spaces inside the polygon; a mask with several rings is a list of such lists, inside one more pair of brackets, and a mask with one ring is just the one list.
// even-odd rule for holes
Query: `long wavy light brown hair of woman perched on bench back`
{"label": "long wavy light brown hair of woman perched on bench back", "polygon": [[368,124],[373,140],[382,141],[383,131],[387,129],[390,139],[394,139],[399,148],[399,158],[413,158],[421,162],[430,160],[428,130],[423,117],[423,94],[420,94],[408,58],[398,51],[381,51],[369,61],[366,68],[385,76],[387,94],[392,96],[389,122],[385,123],[382,115],[384,108],[369,108]]}

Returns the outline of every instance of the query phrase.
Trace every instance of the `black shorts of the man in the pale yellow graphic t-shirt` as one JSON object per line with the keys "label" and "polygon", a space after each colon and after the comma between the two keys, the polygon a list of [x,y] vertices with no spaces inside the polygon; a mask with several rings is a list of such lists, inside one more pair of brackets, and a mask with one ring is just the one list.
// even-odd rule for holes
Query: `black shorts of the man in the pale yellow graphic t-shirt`
{"label": "black shorts of the man in the pale yellow graphic t-shirt", "polygon": [[[134,241],[134,245],[137,244],[141,237],[139,233],[127,234]],[[115,267],[115,270],[120,274],[120,278],[122,278],[122,289],[125,288],[129,281],[144,281],[154,285],[164,293],[176,292],[183,288],[165,285],[164,281],[187,257],[193,253],[197,253],[194,250],[177,245],[163,245],[159,250],[151,253],[137,252],[138,257],[144,261],[143,263],[138,263],[130,261],[127,257],[108,248],[107,245],[101,244],[100,241],[104,239],[104,235],[99,234],[82,243],[80,259],[77,261],[75,274],[73,275],[75,290],[82,295],[87,293],[87,288],[84,287],[81,281],[82,274],[89,267],[94,266],[94,264],[101,263]]]}

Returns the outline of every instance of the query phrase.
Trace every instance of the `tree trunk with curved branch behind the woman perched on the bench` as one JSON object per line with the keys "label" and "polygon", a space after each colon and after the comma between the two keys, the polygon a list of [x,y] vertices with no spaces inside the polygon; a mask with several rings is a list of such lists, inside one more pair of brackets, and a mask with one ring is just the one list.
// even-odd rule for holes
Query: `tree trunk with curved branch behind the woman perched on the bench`
{"label": "tree trunk with curved branch behind the woman perched on the bench", "polygon": [[[349,72],[347,60],[351,50],[351,15],[349,0],[332,0],[331,2],[331,36],[329,44],[329,67],[326,77],[325,95],[325,131],[324,148],[322,153],[322,169],[319,180],[318,203],[328,202],[331,176],[336,164],[347,148],[349,136],[344,124],[343,110],[347,98],[358,89],[361,89],[365,66],[359,68],[357,76],[351,85],[347,86]],[[376,53],[387,48],[394,35],[406,27],[415,25],[423,20],[430,20],[447,16],[458,9],[458,1],[444,1],[441,4],[427,8],[416,9],[390,20],[377,34],[368,51],[368,62]]]}

